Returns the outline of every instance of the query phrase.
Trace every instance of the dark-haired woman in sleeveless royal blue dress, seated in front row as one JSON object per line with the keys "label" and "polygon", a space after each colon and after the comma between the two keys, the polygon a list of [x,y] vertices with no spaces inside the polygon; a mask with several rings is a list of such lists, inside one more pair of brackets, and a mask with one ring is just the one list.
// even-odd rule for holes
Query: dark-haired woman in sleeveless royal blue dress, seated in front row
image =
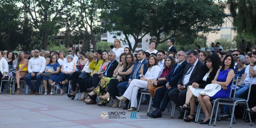
{"label": "dark-haired woman in sleeveless royal blue dress, seated in front row", "polygon": [[212,111],[210,99],[229,97],[231,84],[234,76],[234,58],[232,55],[227,54],[224,58],[224,61],[222,62],[222,68],[217,71],[214,80],[212,80],[211,82],[213,84],[221,85],[221,89],[217,93],[211,94],[213,95],[212,97],[208,95],[198,95],[198,101],[206,116],[204,122],[201,122],[200,124],[208,124],[210,122],[210,114]]}

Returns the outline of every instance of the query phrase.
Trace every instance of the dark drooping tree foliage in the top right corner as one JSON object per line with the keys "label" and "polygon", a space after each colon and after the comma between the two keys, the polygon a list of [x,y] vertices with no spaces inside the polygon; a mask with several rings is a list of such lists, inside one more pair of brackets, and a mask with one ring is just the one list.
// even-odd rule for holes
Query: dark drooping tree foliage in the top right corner
{"label": "dark drooping tree foliage in the top right corner", "polygon": [[[227,4],[238,34],[256,35],[256,1],[228,0]],[[238,12],[237,12],[238,9]]]}

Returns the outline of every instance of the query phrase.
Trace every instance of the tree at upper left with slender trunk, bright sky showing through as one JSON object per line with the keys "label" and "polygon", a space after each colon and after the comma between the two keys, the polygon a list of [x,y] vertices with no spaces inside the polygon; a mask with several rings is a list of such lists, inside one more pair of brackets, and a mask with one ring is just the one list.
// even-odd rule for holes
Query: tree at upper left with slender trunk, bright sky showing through
{"label": "tree at upper left with slender trunk, bright sky showing through", "polygon": [[62,28],[60,19],[64,15],[64,10],[72,4],[72,0],[20,0],[23,4],[23,11],[28,14],[29,22],[33,25],[32,35],[43,44],[43,49],[47,49],[49,41],[59,33]]}

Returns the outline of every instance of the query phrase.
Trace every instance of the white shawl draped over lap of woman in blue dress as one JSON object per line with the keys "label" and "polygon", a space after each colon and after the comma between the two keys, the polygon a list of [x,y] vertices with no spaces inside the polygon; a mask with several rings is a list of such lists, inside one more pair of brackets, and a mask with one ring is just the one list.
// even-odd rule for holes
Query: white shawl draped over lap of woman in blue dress
{"label": "white shawl draped over lap of woman in blue dress", "polygon": [[199,92],[199,95],[208,95],[209,97],[214,96],[219,90],[221,89],[221,86],[219,84],[207,84],[205,86],[204,91]]}

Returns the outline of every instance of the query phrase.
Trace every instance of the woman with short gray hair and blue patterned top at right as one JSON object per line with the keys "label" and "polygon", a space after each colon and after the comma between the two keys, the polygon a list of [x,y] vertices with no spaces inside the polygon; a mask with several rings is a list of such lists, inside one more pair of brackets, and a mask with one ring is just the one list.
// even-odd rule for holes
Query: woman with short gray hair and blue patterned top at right
{"label": "woman with short gray hair and blue patterned top at right", "polygon": [[237,77],[243,77],[244,71],[245,71],[245,66],[244,64],[246,63],[246,58],[243,55],[239,55],[237,57],[237,65],[238,67],[234,69],[235,72],[235,79],[234,82],[236,82]]}

